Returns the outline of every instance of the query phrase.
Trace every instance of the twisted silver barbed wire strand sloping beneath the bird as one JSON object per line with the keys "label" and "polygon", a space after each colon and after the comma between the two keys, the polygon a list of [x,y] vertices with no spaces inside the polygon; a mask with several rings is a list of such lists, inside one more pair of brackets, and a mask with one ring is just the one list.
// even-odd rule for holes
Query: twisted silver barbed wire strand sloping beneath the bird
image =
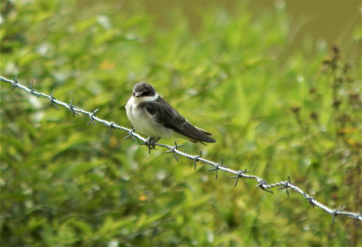
{"label": "twisted silver barbed wire strand sloping beneath the bird", "polygon": [[[101,118],[98,118],[96,116],[96,112],[98,111],[98,109],[90,110],[90,112],[87,112],[87,111],[81,110],[81,109],[77,109],[77,108],[75,108],[75,106],[72,105],[72,102],[73,102],[74,98],[72,98],[71,102],[69,104],[67,104],[66,102],[59,101],[59,100],[55,99],[55,97],[53,96],[54,95],[54,89],[53,89],[51,95],[47,95],[45,93],[37,92],[33,88],[33,82],[31,82],[31,85],[29,87],[26,87],[26,86],[18,83],[16,78],[17,78],[17,76],[12,78],[13,80],[9,80],[9,79],[6,79],[6,78],[3,78],[2,76],[0,76],[1,81],[10,83],[13,86],[12,90],[14,90],[15,88],[24,89],[25,91],[31,93],[34,96],[45,97],[45,98],[49,99],[51,105],[54,105],[58,110],[59,110],[58,105],[63,105],[64,107],[68,108],[73,113],[73,117],[75,116],[75,114],[79,115],[79,113],[87,115],[89,117],[89,119],[90,119],[90,121],[88,122],[87,125],[89,125],[91,123],[94,123],[94,125],[96,125],[95,121],[102,123],[103,125],[109,127],[109,137],[110,137],[112,129],[120,129],[120,130],[128,132],[129,135],[127,137],[125,137],[125,139],[131,137],[132,139],[134,139],[135,142],[137,142],[136,138],[138,138],[138,139],[140,139],[141,141],[144,142],[144,143],[141,143],[141,144],[146,144],[146,145],[148,144],[148,142],[147,142],[148,139],[144,138],[143,136],[136,133],[135,129],[133,129],[133,128],[132,129],[127,129],[127,128],[123,127],[123,126],[119,126],[119,124],[116,124],[114,122],[109,122],[107,120],[103,120]],[[58,104],[58,105],[56,105],[56,104]],[[150,151],[151,151],[150,145],[147,145],[147,146],[148,146],[148,151],[150,153]],[[155,146],[168,148],[169,151],[166,151],[166,152],[167,153],[171,152],[174,155],[174,157],[176,158],[177,162],[178,162],[178,158],[177,158],[176,154],[182,155],[182,156],[184,156],[186,158],[189,158],[189,159],[193,160],[194,161],[194,170],[196,169],[196,163],[197,162],[203,162],[203,163],[206,163],[206,164],[209,164],[209,165],[213,166],[214,168],[208,169],[208,171],[215,171],[215,179],[218,178],[218,170],[233,173],[236,176],[233,176],[233,177],[230,177],[230,178],[235,179],[234,187],[237,185],[237,182],[239,181],[239,178],[244,178],[244,179],[254,179],[254,180],[256,180],[257,183],[258,183],[256,188],[259,187],[263,191],[273,193],[269,189],[274,188],[274,187],[279,187],[279,188],[277,188],[278,190],[279,189],[285,189],[288,197],[289,197],[288,189],[292,189],[292,190],[298,192],[299,194],[301,194],[302,196],[304,196],[304,198],[313,206],[313,209],[314,209],[314,206],[317,206],[317,207],[319,207],[321,209],[324,209],[325,212],[331,214],[332,215],[332,225],[334,224],[334,218],[336,216],[344,215],[344,216],[346,216],[348,218],[354,219],[355,220],[355,226],[357,227],[357,229],[359,229],[358,221],[362,221],[362,212],[360,212],[360,213],[347,212],[347,211],[342,210],[343,206],[341,206],[341,208],[339,210],[338,209],[331,209],[328,206],[326,206],[326,205],[322,204],[321,202],[317,201],[314,197],[311,197],[310,195],[308,195],[306,192],[304,192],[302,189],[297,187],[295,184],[291,183],[289,176],[288,176],[288,181],[281,181],[279,183],[268,184],[264,179],[262,179],[260,177],[257,177],[257,176],[254,176],[254,175],[247,175],[246,173],[250,172],[250,171],[247,171],[247,169],[245,169],[245,170],[233,170],[233,169],[231,169],[231,168],[229,168],[227,166],[224,166],[223,159],[221,160],[221,163],[215,163],[215,162],[212,162],[210,160],[202,158],[202,152],[200,152],[200,155],[190,155],[190,154],[187,154],[185,152],[182,152],[181,150],[178,149],[178,147],[181,147],[182,145],[177,145],[176,142],[175,142],[175,146],[169,146],[169,145],[161,144],[161,143],[155,143]]]}

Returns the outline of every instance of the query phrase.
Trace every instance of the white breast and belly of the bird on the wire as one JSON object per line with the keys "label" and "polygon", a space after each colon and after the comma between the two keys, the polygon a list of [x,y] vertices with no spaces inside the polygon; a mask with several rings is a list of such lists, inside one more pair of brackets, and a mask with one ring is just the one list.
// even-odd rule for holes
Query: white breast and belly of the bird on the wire
{"label": "white breast and belly of the bird on the wire", "polygon": [[140,109],[138,104],[131,99],[126,104],[126,113],[128,119],[131,121],[132,126],[136,132],[147,135],[148,137],[170,139],[173,137],[173,131],[161,126],[146,109]]}

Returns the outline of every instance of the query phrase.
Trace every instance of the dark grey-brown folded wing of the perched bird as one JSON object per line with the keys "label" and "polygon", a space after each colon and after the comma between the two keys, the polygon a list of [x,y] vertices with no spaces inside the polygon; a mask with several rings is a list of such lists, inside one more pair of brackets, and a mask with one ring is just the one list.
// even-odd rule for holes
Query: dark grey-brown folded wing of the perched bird
{"label": "dark grey-brown folded wing of the perched bird", "polygon": [[185,118],[177,112],[177,110],[175,110],[161,97],[158,97],[156,101],[142,102],[140,104],[140,107],[145,108],[151,115],[153,115],[153,117],[155,117],[156,121],[164,127],[172,129],[178,134],[194,139],[196,142],[216,142],[214,139],[208,137],[206,134],[202,133],[202,131],[186,121]]}

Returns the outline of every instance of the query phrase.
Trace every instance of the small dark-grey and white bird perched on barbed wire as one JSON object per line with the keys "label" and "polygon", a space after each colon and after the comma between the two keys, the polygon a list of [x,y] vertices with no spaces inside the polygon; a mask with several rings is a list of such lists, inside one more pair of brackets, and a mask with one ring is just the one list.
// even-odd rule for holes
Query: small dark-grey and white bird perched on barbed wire
{"label": "small dark-grey and white bird perched on barbed wire", "polygon": [[132,126],[149,137],[146,144],[149,148],[151,145],[151,149],[155,149],[155,143],[161,138],[177,137],[204,145],[216,142],[209,137],[210,132],[192,125],[146,82],[134,85],[125,107]]}

